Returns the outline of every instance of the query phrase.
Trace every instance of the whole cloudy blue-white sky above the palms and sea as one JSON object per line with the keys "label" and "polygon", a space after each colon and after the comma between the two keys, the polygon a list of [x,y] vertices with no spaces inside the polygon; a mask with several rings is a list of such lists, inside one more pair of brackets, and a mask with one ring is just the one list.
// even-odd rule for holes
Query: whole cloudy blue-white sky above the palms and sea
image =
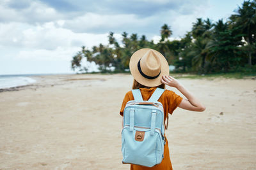
{"label": "whole cloudy blue-white sky above the palms and sea", "polygon": [[[157,42],[163,24],[170,40],[191,31],[196,18],[227,20],[241,0],[1,0],[0,74],[75,73],[74,55],[108,44],[108,34],[145,35]],[[86,62],[85,62],[86,63]],[[88,64],[88,63],[87,63]],[[88,66],[91,66],[88,64]],[[95,64],[90,71],[95,71]]]}

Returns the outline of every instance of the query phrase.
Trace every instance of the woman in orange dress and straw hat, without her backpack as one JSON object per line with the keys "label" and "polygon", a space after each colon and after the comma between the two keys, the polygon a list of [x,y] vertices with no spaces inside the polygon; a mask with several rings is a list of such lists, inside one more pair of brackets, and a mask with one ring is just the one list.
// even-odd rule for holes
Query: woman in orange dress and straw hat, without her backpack
{"label": "woman in orange dress and straw hat, without her backpack", "polygon": [[[136,51],[132,54],[129,67],[134,77],[132,89],[140,89],[144,101],[147,101],[150,96],[152,96],[157,87],[165,89],[165,85],[176,88],[187,98],[184,99],[171,90],[165,90],[158,100],[163,104],[164,121],[168,118],[168,113],[172,114],[177,107],[191,111],[205,110],[205,106],[188,92],[179,81],[169,76],[168,62],[164,56],[156,50],[142,48]],[[134,97],[132,96],[132,91],[129,91],[125,94],[120,115],[123,116],[125,104],[131,100],[134,100]],[[131,164],[131,169],[172,169],[167,139],[166,145],[164,145],[164,158],[160,164],[153,167]]]}

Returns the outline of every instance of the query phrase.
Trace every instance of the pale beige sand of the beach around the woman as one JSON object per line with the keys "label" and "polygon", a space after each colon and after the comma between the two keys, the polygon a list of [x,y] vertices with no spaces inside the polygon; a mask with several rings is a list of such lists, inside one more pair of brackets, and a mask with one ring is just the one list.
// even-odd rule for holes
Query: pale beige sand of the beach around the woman
{"label": "pale beige sand of the beach around the woman", "polygon": [[[129,169],[119,110],[131,75],[34,78],[0,92],[0,169]],[[170,115],[173,169],[256,169],[256,80],[179,81],[206,110]]]}

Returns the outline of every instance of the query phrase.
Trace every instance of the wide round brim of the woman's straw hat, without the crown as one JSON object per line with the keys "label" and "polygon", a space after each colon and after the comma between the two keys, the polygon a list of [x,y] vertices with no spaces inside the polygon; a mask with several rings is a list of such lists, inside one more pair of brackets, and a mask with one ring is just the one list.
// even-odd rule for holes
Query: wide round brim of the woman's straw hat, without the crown
{"label": "wide round brim of the woman's straw hat, without the crown", "polygon": [[141,57],[143,57],[143,55],[145,55],[145,53],[148,50],[153,50],[153,49],[142,48],[142,49],[134,52],[130,59],[129,67],[130,67],[130,71],[131,71],[133,78],[136,81],[138,81],[141,85],[145,85],[147,87],[156,87],[156,86],[159,86],[162,84],[162,82],[161,82],[162,76],[169,75],[169,72],[170,72],[169,64],[161,53],[157,52],[156,50],[153,50],[159,57],[159,60],[161,63],[161,73],[159,74],[159,76],[157,76],[157,78],[154,78],[154,79],[148,79],[148,78],[143,77],[140,74],[140,71],[138,70],[138,62],[141,59]]}

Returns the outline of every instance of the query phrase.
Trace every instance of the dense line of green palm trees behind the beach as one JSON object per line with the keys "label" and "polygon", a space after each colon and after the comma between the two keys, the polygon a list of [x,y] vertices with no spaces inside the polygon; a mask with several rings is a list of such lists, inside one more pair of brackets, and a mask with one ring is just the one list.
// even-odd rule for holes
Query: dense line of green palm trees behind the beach
{"label": "dense line of green palm trees behind the beach", "polygon": [[118,43],[114,32],[109,32],[108,45],[100,43],[91,50],[82,46],[72,57],[71,67],[86,73],[88,67],[81,64],[86,57],[98,64],[101,72],[109,72],[113,67],[115,73],[121,73],[129,69],[132,53],[140,48],[153,48],[166,57],[169,65],[175,66],[175,71],[199,74],[256,71],[256,0],[244,1],[227,21],[197,18],[191,31],[179,40],[168,39],[172,30],[167,24],[160,33],[160,41],[154,43],[145,35],[123,32],[122,42]]}

